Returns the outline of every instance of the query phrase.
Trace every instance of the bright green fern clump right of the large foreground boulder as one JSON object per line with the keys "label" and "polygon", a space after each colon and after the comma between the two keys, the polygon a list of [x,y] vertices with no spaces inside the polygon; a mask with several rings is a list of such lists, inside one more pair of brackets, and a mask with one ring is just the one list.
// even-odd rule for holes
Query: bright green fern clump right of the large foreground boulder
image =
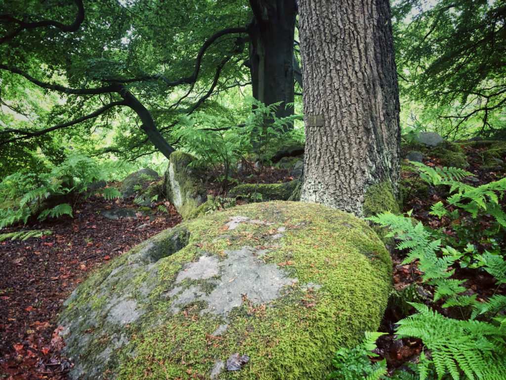
{"label": "bright green fern clump right of the large foreground boulder", "polygon": [[[461,182],[471,175],[462,169],[413,165],[420,170],[424,181],[449,187],[449,197],[434,204],[431,214],[456,220],[464,237],[476,236],[475,231],[469,231],[476,224],[463,223],[466,218],[476,223],[492,218],[495,224],[490,235],[504,232],[506,214],[500,200],[506,190],[506,178],[474,187]],[[413,222],[411,213],[405,216],[383,213],[368,219],[389,229],[388,236],[397,240],[396,248],[407,252],[403,263],[414,263],[422,273],[424,284],[433,288],[432,307],[409,303],[415,314],[397,322],[397,337],[421,339],[425,352],[416,365],[410,365],[410,371],[397,371],[393,378],[506,379],[506,295],[478,299],[476,294],[467,292],[466,279],[454,276],[458,267],[487,272],[494,277],[497,291],[506,283],[506,261],[500,247],[479,252],[466,239],[453,247],[444,234],[419,221]],[[437,305],[443,309],[460,309],[461,318],[436,312]]]}

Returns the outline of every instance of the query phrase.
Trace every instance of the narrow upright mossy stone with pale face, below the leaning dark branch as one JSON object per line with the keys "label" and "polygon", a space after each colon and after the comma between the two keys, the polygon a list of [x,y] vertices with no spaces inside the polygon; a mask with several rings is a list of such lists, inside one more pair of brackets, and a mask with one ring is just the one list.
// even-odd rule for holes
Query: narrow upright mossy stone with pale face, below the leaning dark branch
{"label": "narrow upright mossy stone with pale face, below the leaning dark branch", "polygon": [[202,170],[194,167],[194,157],[182,151],[175,151],[170,156],[164,176],[163,189],[184,219],[195,214],[195,210],[207,200],[203,185]]}

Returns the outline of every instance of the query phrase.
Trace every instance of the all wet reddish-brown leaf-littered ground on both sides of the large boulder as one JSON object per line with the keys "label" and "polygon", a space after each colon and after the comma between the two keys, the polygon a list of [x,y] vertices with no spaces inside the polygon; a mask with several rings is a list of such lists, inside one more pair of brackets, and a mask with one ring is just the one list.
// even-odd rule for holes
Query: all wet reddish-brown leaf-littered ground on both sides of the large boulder
{"label": "all wet reddish-brown leaf-littered ground on both sides of the large boulder", "polygon": [[[479,148],[468,147],[465,153],[470,163],[467,170],[475,175],[467,180],[470,184],[477,186],[506,175],[501,170],[483,169]],[[424,163],[429,166],[441,164],[438,158],[430,156],[424,159]],[[254,163],[244,163],[244,167],[243,175],[237,178],[240,182],[273,183],[292,179],[285,169],[269,167],[259,172]],[[403,171],[402,176],[410,179],[413,173]],[[221,193],[219,185],[210,184],[209,193]],[[424,197],[419,197],[415,191],[407,194],[404,211],[412,209],[412,216],[425,225],[442,226],[429,211],[432,204],[444,199],[445,194],[437,188],[430,188]],[[158,205],[165,208],[158,208]],[[158,205],[152,205],[147,211],[146,208],[141,210],[133,199],[106,201],[90,197],[76,206],[74,218],[65,216],[31,222],[2,231],[37,229],[51,230],[52,234],[26,241],[8,239],[0,242],[0,378],[67,378],[72,363],[60,355],[63,341],[57,325],[64,300],[100,265],[181,222],[180,215],[168,202],[158,202]],[[125,217],[111,220],[103,215],[104,211],[119,209],[123,210]],[[484,221],[483,228],[486,227]],[[448,233],[451,234],[450,226]],[[419,299],[426,297],[429,303],[431,289],[421,284],[421,273],[413,264],[401,264],[405,252],[394,250],[392,256],[394,289],[402,291],[412,287]],[[466,284],[469,291],[480,297],[486,297],[496,288],[487,274],[466,273],[465,278],[469,279]],[[498,291],[506,293],[504,288]],[[386,358],[390,370],[416,360],[423,348],[419,340],[395,340],[394,324],[406,314],[402,309],[395,303],[389,306],[381,326],[381,330],[389,334],[378,340],[379,359]]]}

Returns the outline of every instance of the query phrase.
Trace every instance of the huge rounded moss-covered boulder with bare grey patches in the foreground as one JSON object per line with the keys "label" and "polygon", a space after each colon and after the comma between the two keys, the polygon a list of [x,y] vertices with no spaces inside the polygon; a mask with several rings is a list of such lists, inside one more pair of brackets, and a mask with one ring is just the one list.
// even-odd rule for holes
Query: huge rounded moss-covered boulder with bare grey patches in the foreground
{"label": "huge rounded moss-covered boulder with bare grey patches in the foreground", "polygon": [[317,204],[186,221],[66,301],[70,377],[321,380],[336,350],[377,328],[390,271],[364,221]]}

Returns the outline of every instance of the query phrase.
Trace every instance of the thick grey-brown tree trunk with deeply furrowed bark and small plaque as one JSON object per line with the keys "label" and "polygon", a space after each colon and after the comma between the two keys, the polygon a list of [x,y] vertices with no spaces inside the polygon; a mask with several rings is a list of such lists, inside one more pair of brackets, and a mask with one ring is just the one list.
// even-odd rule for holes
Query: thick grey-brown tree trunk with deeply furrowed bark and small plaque
{"label": "thick grey-brown tree trunk with deeply furrowed bark and small plaque", "polygon": [[300,0],[299,10],[306,122],[301,200],[363,216],[370,186],[386,184],[382,188],[397,194],[399,95],[390,4]]}

